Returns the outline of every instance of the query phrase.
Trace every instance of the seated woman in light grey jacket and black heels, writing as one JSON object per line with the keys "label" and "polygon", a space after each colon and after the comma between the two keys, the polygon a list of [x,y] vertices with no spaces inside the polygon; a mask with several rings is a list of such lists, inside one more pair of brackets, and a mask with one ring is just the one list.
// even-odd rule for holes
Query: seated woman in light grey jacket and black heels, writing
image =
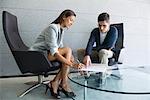
{"label": "seated woman in light grey jacket and black heels, writing", "polygon": [[[70,28],[74,23],[76,14],[72,10],[64,10],[56,20],[45,28],[35,41],[30,50],[48,51],[50,61],[58,60],[62,63],[58,74],[50,81],[47,89],[50,89],[51,95],[60,98],[59,90],[67,97],[75,97],[68,83],[68,73],[70,67],[80,68],[82,64],[74,63],[72,50],[63,46],[63,33],[65,28]],[[46,89],[46,91],[47,91]]]}

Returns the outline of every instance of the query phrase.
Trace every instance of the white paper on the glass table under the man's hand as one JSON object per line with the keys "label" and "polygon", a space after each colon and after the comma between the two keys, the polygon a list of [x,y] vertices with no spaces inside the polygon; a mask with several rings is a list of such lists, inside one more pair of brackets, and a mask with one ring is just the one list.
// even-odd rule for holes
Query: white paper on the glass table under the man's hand
{"label": "white paper on the glass table under the man's hand", "polygon": [[107,66],[104,64],[95,64],[82,68],[82,71],[106,72]]}

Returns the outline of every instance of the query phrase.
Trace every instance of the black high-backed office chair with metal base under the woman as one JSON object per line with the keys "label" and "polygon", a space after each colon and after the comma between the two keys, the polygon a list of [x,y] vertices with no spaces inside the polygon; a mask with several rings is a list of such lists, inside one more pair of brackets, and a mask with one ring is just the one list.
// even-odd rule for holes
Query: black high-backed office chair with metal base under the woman
{"label": "black high-backed office chair with metal base under the woman", "polygon": [[38,76],[38,83],[19,95],[19,97],[23,97],[31,90],[46,84],[42,78],[48,76],[50,71],[59,69],[61,63],[58,61],[50,62],[42,52],[28,51],[28,47],[19,35],[17,17],[3,11],[2,18],[5,38],[20,71],[22,74],[32,73]]}

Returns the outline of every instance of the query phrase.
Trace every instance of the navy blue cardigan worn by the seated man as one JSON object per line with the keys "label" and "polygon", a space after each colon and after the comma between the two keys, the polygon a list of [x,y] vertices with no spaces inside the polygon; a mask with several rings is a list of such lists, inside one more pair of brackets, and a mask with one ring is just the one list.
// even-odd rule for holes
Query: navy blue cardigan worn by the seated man
{"label": "navy blue cardigan worn by the seated man", "polygon": [[107,32],[107,35],[104,39],[104,42],[100,44],[99,28],[93,29],[86,47],[85,55],[91,55],[94,42],[96,42],[96,47],[94,47],[94,49],[96,49],[97,51],[101,49],[111,49],[112,51],[114,51],[117,38],[118,38],[117,28],[114,26],[110,26],[110,29]]}

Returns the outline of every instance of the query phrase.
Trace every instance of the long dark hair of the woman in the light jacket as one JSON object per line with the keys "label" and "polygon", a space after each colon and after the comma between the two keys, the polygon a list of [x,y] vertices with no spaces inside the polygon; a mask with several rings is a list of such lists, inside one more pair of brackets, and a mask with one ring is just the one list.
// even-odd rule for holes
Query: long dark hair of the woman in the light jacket
{"label": "long dark hair of the woman in the light jacket", "polygon": [[63,22],[63,18],[67,18],[69,16],[75,16],[76,17],[76,14],[72,10],[66,9],[52,23],[61,24]]}

